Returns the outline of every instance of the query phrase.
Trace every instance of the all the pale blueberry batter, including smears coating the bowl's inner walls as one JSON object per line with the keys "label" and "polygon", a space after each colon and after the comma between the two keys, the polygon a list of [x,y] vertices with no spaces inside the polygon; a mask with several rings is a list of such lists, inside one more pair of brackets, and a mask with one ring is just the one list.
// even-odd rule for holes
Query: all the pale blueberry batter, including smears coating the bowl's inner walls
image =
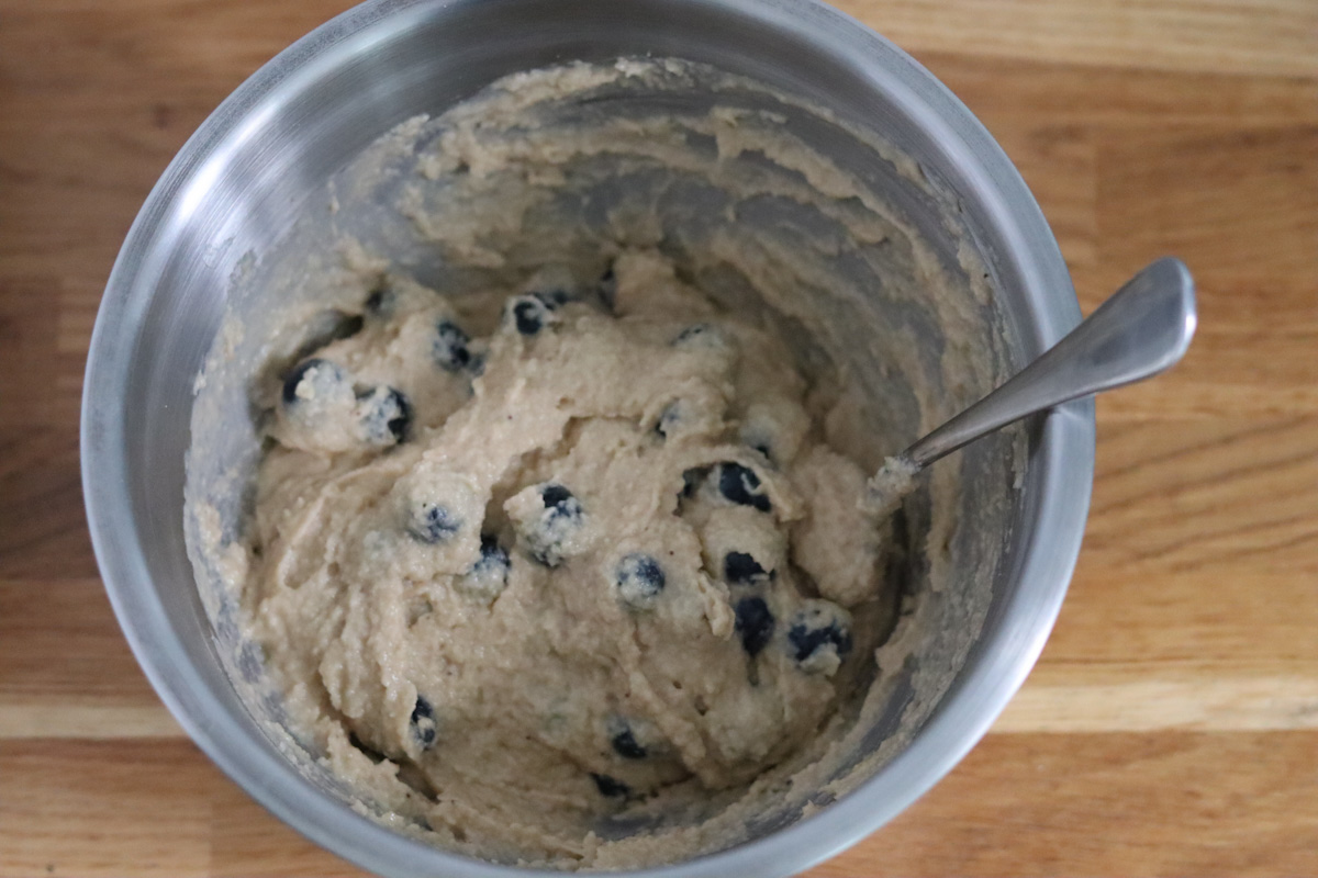
{"label": "all the pale blueberry batter, including smears coating the bowl's inner walls", "polygon": [[920,728],[1006,458],[934,467],[888,533],[862,470],[987,392],[1000,333],[937,180],[840,125],[672,59],[517,74],[239,265],[185,525],[312,783],[471,856],[633,867],[828,807]]}

